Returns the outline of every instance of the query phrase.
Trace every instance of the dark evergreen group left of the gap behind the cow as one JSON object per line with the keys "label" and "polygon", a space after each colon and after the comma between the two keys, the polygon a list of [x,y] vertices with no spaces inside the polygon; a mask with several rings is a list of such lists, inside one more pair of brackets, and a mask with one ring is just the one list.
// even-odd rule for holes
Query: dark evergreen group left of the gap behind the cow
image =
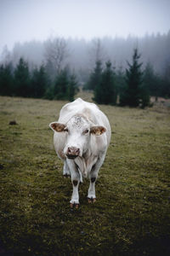
{"label": "dark evergreen group left of the gap behind the cow", "polygon": [[77,79],[68,67],[59,71],[52,81],[44,65],[30,70],[20,58],[16,67],[11,62],[0,65],[0,95],[73,101]]}

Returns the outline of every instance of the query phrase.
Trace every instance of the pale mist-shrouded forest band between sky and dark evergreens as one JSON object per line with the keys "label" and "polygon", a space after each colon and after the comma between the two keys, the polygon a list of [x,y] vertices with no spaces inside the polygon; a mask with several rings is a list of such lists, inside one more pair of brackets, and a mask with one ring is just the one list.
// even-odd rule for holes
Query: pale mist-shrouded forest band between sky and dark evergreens
{"label": "pale mist-shrouded forest band between sky and dark evergreens", "polygon": [[[39,67],[46,63],[45,56],[48,38],[41,42],[32,40],[23,44],[14,44],[14,49],[8,50],[4,47],[1,55],[2,61],[11,61],[14,66],[23,57],[28,61],[30,67]],[[110,60],[113,66],[118,69],[125,69],[127,61],[131,61],[133,49],[138,48],[141,55],[143,67],[150,62],[156,73],[163,74],[165,67],[170,64],[170,31],[167,34],[160,33],[154,35],[145,35],[143,38],[128,36],[127,38],[93,38],[86,40],[84,38],[63,38],[67,47],[68,55],[65,59],[64,66],[68,65],[78,76],[81,73],[88,73],[96,61],[95,48],[97,42],[100,44],[98,58],[105,64]]]}

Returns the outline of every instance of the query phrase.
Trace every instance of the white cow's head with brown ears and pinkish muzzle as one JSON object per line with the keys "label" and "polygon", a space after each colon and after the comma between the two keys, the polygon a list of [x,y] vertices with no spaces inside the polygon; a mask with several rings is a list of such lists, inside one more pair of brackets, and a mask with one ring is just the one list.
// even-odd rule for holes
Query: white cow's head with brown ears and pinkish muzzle
{"label": "white cow's head with brown ears and pinkish muzzle", "polygon": [[66,133],[64,154],[69,159],[82,156],[88,148],[91,135],[100,136],[106,129],[101,125],[93,125],[82,115],[73,116],[66,125],[51,123],[50,128],[56,132]]}

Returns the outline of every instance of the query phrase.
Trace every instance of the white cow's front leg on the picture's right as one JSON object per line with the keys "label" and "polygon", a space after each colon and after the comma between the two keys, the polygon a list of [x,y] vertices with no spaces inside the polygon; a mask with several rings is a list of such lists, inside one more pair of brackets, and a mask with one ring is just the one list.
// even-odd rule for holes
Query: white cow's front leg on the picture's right
{"label": "white cow's front leg on the picture's right", "polygon": [[90,185],[88,189],[88,202],[95,202],[96,195],[95,195],[95,183],[98,177],[99,168],[102,166],[105,160],[105,154],[103,154],[99,159],[96,161],[95,165],[92,167],[91,172],[89,173]]}

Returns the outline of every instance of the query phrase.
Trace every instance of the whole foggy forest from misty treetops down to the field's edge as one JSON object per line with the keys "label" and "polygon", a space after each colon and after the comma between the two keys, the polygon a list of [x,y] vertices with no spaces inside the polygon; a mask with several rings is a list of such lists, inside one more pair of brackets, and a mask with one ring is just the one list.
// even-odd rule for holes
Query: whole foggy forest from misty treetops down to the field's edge
{"label": "whole foggy forest from misty treetops down to the field's edge", "polygon": [[[90,41],[48,38],[44,42],[17,43],[11,51],[4,46],[0,59],[0,94],[71,101],[78,87],[82,86],[84,90],[94,90],[96,102],[106,103],[107,99],[99,101],[96,93],[99,88],[105,90],[104,81],[108,79],[109,72],[115,98],[108,103],[116,104],[117,96],[122,96],[122,92],[127,90],[127,77],[136,68],[140,76],[139,87],[145,88],[145,96],[169,97],[169,45],[170,31],[163,35],[146,34],[144,38],[105,37]],[[95,83],[99,84],[98,89]],[[140,98],[138,102],[139,106]]]}

